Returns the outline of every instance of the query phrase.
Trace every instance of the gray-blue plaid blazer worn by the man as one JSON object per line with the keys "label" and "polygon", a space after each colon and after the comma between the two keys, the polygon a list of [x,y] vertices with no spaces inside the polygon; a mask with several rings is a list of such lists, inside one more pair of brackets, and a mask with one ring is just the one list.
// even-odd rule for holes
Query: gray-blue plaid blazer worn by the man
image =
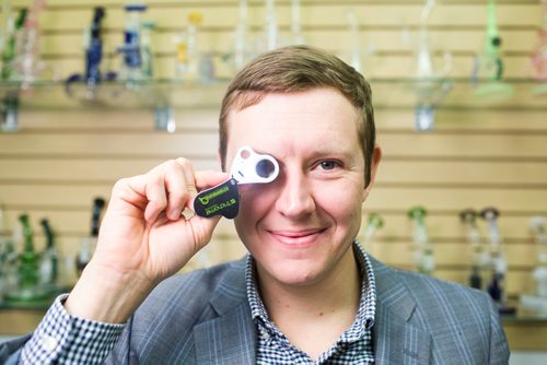
{"label": "gray-blue plaid blazer worn by the man", "polygon": [[[376,364],[508,364],[507,340],[487,294],[371,261]],[[240,260],[160,284],[106,364],[254,364],[256,339]],[[0,346],[0,360],[20,345]]]}

